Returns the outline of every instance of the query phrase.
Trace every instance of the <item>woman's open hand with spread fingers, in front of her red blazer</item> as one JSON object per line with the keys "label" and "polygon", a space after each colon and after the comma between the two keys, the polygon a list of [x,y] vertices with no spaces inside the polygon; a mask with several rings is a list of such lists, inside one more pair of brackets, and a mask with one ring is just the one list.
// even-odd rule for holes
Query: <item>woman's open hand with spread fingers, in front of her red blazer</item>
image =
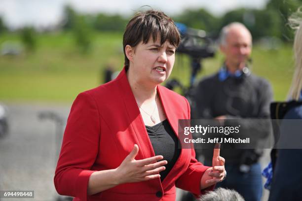
{"label": "woman's open hand with spread fingers, in front of her red blazer", "polygon": [[[159,172],[165,169],[167,161],[159,161],[163,156],[135,160],[139,148],[135,144],[130,154],[115,169],[118,184],[148,181],[160,177]],[[159,161],[159,162],[157,162]]]}

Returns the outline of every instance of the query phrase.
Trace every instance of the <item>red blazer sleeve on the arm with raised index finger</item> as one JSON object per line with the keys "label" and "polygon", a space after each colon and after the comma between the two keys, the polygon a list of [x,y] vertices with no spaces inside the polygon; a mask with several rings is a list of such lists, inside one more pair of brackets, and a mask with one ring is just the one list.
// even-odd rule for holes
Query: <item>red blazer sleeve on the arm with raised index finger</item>
{"label": "red blazer sleeve on the arm with raised index finger", "polygon": [[[186,99],[188,106],[188,119],[190,119],[190,106]],[[200,180],[204,172],[210,168],[199,163],[195,158],[195,150],[191,150],[191,159],[187,170],[176,180],[176,187],[191,192],[195,197],[198,197],[206,191],[212,191],[215,185],[209,186],[206,189],[200,190]]]}

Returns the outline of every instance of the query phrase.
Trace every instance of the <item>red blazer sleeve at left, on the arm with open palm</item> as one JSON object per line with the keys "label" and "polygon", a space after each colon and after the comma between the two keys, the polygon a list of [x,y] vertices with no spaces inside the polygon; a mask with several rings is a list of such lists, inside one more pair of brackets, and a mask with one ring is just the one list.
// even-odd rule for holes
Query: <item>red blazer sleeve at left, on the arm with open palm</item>
{"label": "red blazer sleeve at left, on the arm with open palm", "polygon": [[87,200],[90,170],[99,149],[100,120],[95,100],[83,92],[76,97],[63,137],[54,184],[60,195]]}

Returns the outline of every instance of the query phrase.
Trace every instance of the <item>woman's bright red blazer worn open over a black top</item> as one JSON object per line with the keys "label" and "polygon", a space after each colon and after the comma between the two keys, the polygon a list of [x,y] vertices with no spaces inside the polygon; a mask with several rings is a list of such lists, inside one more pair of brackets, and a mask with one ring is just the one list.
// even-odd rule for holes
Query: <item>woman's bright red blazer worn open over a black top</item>
{"label": "woman's bright red blazer worn open over a black top", "polygon": [[[160,85],[157,93],[167,119],[178,135],[178,119],[190,118],[189,102]],[[61,195],[74,201],[175,201],[175,187],[200,191],[200,179],[209,167],[195,159],[194,149],[182,149],[166,178],[115,186],[88,196],[89,176],[94,171],[118,167],[138,144],[136,160],[154,156],[140,110],[125,69],[116,79],[80,93],[74,101],[65,129],[54,184]],[[208,188],[207,190],[213,189]]]}

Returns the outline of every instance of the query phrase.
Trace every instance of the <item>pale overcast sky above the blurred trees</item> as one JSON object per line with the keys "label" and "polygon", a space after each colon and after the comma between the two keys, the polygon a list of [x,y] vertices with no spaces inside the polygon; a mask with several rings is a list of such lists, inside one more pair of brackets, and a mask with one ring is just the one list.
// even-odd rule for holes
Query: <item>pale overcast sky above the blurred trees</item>
{"label": "pale overcast sky above the blurred trees", "polygon": [[0,0],[0,16],[11,28],[24,25],[46,27],[63,17],[63,6],[71,4],[80,12],[107,12],[130,15],[142,5],[150,5],[169,15],[186,8],[204,7],[221,15],[237,7],[263,8],[267,0]]}

